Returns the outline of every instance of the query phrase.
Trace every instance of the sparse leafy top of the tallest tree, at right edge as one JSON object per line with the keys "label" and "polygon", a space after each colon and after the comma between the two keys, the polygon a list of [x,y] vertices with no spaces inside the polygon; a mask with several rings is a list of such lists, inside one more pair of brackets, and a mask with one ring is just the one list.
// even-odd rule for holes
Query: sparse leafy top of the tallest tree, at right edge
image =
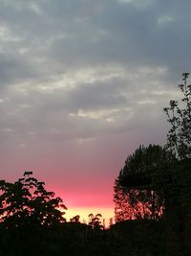
{"label": "sparse leafy top of the tallest tree, at right edge", "polygon": [[171,126],[166,146],[178,159],[191,158],[191,84],[188,84],[189,73],[183,73],[182,77],[180,103],[172,100],[169,107],[163,108]]}

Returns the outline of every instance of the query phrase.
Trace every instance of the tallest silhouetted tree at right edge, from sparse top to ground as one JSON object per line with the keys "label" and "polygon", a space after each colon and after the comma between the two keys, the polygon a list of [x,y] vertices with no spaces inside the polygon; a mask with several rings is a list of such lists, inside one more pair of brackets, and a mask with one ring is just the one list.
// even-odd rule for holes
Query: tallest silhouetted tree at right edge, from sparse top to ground
{"label": "tallest silhouetted tree at right edge, from sparse top to ground", "polygon": [[182,74],[180,102],[164,107],[170,129],[166,149],[176,157],[169,165],[171,182],[165,183],[166,225],[169,255],[189,255],[191,246],[191,85],[189,73]]}

